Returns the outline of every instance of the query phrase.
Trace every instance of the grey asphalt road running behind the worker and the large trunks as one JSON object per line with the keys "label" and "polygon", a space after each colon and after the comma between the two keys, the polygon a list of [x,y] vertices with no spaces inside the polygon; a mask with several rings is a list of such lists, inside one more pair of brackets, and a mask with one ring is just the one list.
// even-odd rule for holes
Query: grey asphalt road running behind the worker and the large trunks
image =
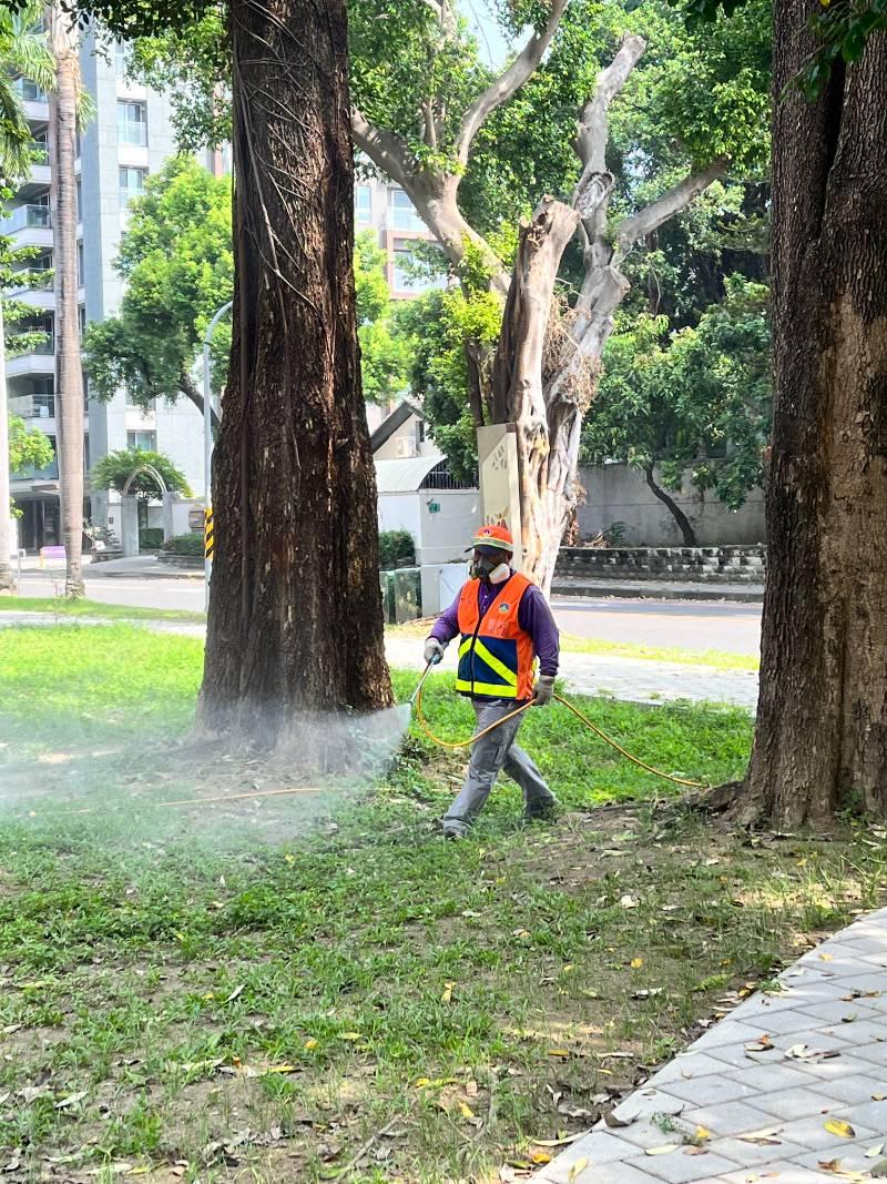
{"label": "grey asphalt road running behind the worker and the large trunks", "polygon": [[[86,594],[104,604],[145,609],[203,607],[203,580],[114,578],[85,571]],[[53,596],[60,587],[58,572],[27,572],[22,596]],[[641,645],[680,646],[688,650],[727,650],[757,654],[760,605],[700,600],[556,599],[557,623],[577,637]]]}

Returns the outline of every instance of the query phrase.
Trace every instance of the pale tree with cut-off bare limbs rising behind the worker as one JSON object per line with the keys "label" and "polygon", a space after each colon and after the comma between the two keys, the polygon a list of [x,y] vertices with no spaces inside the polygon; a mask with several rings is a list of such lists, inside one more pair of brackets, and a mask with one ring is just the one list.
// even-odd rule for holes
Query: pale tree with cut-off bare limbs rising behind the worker
{"label": "pale tree with cut-off bare limbs rising behind the worker", "polygon": [[[447,0],[425,8],[430,9],[427,44],[434,46],[436,38],[436,52],[446,57],[459,37],[453,8]],[[588,9],[574,6],[574,19]],[[354,111],[358,147],[410,195],[451,263],[458,266],[473,247],[490,269],[491,288],[506,297],[490,381],[485,384],[483,374],[475,379],[472,410],[477,423],[518,425],[523,562],[544,588],[550,587],[564,527],[576,504],[583,414],[594,397],[614,313],[629,288],[621,265],[635,244],[725,175],[739,147],[723,133],[711,134],[707,160],[691,159],[686,175],[646,205],[611,217],[620,195],[607,159],[610,109],[648,44],[645,37],[626,31],[580,105],[575,149],[581,173],[570,200],[542,199],[522,227],[513,270],[504,268],[465,219],[459,189],[485,123],[530,82],[546,51],[551,49],[552,57],[556,53],[566,11],[568,0],[551,0],[542,11],[537,7],[537,27],[524,49],[461,110],[453,111],[441,86],[439,92],[426,95],[406,133],[382,124],[369,88],[367,104]],[[360,103],[363,96],[356,89]],[[762,114],[766,109],[763,88],[751,88],[751,94],[752,105],[757,99]],[[739,99],[749,102],[745,84]],[[740,150],[747,148],[742,146]],[[583,276],[576,298],[568,305],[556,298],[556,284],[564,252],[576,236],[582,244]],[[483,365],[481,359],[478,362]]]}

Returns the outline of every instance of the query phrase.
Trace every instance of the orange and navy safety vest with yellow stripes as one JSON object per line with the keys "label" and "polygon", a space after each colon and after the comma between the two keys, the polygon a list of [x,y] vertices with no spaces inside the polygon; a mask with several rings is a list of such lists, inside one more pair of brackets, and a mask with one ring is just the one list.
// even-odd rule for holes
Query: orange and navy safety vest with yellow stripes
{"label": "orange and navy safety vest with yellow stripes", "polygon": [[496,590],[480,616],[480,580],[468,580],[459,597],[459,671],[455,689],[474,699],[532,699],[536,650],[518,624],[520,600],[532,581],[514,573]]}

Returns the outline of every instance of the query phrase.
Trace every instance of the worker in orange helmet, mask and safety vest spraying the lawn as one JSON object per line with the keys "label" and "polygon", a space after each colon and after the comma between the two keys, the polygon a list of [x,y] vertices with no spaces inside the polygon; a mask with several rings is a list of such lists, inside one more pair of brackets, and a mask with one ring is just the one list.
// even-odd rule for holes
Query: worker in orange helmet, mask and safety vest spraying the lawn
{"label": "worker in orange helmet, mask and safety vest spraying the lawn", "polygon": [[[537,707],[551,702],[557,625],[542,591],[511,566],[514,542],[505,527],[481,527],[473,552],[471,578],[425,643],[430,664],[460,636],[455,689],[471,699],[477,716],[468,776],[442,819],[445,837],[454,839],[467,835],[503,768],[523,790],[526,818],[549,818],[557,805],[535,761],[514,744],[523,714],[499,725],[533,697]],[[480,735],[487,728],[493,731]]]}

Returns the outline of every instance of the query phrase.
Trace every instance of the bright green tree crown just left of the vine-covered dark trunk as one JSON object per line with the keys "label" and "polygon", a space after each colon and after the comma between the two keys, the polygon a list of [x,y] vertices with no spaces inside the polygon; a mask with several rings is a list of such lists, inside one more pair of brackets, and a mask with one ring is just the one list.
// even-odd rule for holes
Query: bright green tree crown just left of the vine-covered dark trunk
{"label": "bright green tree crown just left of the vine-covered dark trunk", "polygon": [[[168,161],[132,201],[115,263],[127,283],[116,317],[91,324],[85,366],[96,398],[125,387],[137,406],[174,403],[215,311],[233,296],[231,178],[215,178],[193,159]],[[218,326],[213,377],[227,372],[231,329]]]}

